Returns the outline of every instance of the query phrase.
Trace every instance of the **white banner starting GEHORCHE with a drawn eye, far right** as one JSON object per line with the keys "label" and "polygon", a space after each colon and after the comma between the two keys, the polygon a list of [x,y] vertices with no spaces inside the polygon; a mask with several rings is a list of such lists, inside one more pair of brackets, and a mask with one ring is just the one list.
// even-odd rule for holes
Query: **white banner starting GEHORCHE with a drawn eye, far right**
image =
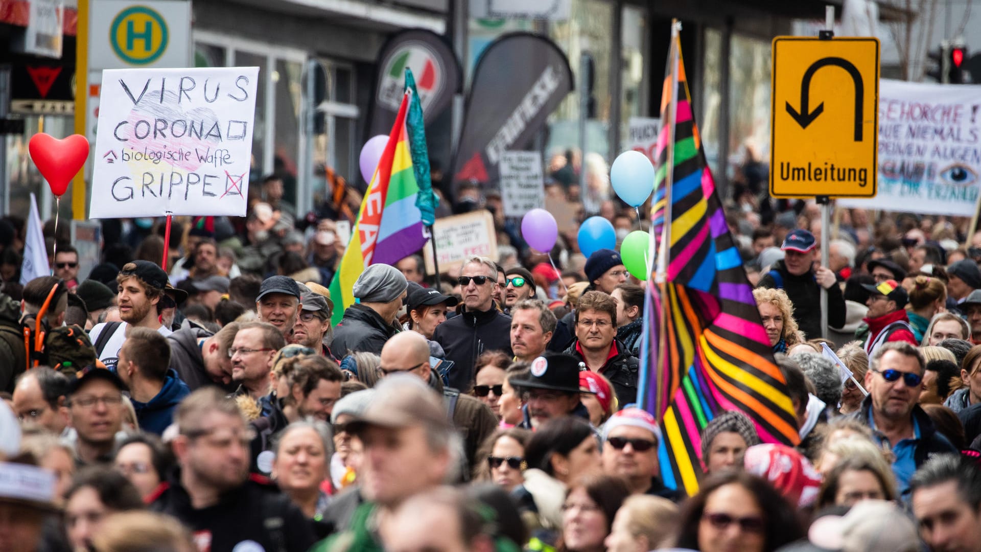
{"label": "white banner starting GEHORCHE with a drawn eye, far right", "polygon": [[879,85],[879,190],[843,207],[972,216],[981,193],[981,86]]}

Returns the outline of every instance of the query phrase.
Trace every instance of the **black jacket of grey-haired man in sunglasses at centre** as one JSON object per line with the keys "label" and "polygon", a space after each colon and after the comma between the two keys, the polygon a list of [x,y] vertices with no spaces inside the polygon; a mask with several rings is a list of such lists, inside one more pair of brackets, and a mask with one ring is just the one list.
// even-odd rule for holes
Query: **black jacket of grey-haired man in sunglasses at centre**
{"label": "black jacket of grey-haired man in sunglasses at centre", "polygon": [[[346,313],[345,313],[346,315]],[[334,337],[334,343],[337,337]],[[470,311],[466,307],[436,327],[433,341],[439,343],[446,359],[453,361],[449,385],[466,393],[473,386],[477,358],[488,351],[500,351],[511,357],[511,317],[493,306],[487,311]],[[336,350],[336,349],[335,349]]]}

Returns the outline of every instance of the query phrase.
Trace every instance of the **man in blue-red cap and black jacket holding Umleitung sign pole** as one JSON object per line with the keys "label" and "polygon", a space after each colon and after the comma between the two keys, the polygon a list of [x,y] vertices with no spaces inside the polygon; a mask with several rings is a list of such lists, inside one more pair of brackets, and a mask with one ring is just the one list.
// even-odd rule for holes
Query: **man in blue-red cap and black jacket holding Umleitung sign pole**
{"label": "man in blue-red cap and black jacket holding Umleitung sign pole", "polygon": [[821,288],[828,292],[828,326],[845,326],[847,309],[835,273],[826,266],[814,267],[817,241],[810,232],[798,229],[787,234],[781,249],[783,260],[773,263],[759,279],[759,288],[784,290],[794,304],[794,318],[807,339],[821,336]]}

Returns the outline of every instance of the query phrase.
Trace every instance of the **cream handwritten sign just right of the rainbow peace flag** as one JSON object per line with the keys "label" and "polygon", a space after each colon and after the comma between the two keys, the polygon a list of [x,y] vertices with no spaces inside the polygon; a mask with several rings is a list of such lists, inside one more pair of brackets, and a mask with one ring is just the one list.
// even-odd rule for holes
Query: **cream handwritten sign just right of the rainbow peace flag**
{"label": "cream handwritten sign just right of the rainbow peace flag", "polygon": [[[488,210],[436,219],[433,225],[439,272],[452,273],[474,255],[497,258],[497,235],[493,231],[493,215]],[[436,272],[433,266],[433,245],[423,248],[426,273]]]}

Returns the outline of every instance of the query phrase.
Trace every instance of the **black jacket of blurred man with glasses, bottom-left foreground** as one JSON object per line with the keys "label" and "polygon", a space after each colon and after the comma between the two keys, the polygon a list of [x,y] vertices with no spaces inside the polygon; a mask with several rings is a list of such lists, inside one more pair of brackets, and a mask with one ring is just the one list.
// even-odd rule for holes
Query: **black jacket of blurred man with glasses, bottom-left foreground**
{"label": "black jacket of blurred man with glasses, bottom-left foreground", "polygon": [[218,504],[195,509],[180,481],[175,474],[150,510],[174,516],[195,534],[210,532],[214,552],[229,552],[247,540],[267,552],[306,552],[315,541],[313,524],[274,484],[251,478]]}

